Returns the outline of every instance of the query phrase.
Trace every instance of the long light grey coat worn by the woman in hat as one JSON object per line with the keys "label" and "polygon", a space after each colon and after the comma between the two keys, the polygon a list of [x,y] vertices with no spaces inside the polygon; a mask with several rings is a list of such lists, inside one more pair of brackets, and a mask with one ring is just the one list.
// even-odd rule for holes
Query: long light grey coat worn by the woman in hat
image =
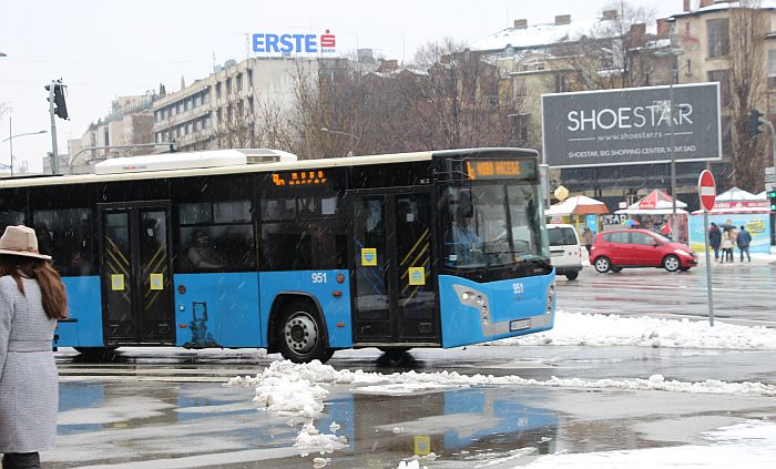
{"label": "long light grey coat worn by the woman in hat", "polygon": [[54,447],[59,381],[38,282],[0,277],[0,453]]}

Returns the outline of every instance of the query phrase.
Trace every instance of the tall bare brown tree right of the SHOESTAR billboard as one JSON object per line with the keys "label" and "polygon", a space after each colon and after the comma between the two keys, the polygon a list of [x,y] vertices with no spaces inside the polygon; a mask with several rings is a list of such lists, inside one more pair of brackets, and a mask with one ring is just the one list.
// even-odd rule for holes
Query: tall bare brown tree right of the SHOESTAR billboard
{"label": "tall bare brown tree right of the SHOESTAR billboard", "polygon": [[[748,135],[748,111],[760,108],[765,99],[765,37],[769,31],[769,11],[759,1],[744,0],[731,8],[729,92],[733,143],[732,183],[759,190],[763,169],[769,154],[766,139]],[[762,108],[760,108],[762,109]]]}

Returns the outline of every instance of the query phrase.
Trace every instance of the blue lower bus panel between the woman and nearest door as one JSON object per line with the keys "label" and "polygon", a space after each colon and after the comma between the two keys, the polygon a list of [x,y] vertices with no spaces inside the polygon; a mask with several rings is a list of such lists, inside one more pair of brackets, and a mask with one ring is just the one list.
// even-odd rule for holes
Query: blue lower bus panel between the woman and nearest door
{"label": "blue lower bus panel between the woman and nearest door", "polygon": [[60,320],[54,347],[102,347],[100,277],[63,277],[69,317]]}

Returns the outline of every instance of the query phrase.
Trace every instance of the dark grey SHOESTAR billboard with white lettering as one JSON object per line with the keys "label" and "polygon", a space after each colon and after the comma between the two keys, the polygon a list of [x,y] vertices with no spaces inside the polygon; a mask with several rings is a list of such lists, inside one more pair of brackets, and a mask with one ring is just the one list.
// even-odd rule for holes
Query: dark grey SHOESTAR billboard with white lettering
{"label": "dark grey SHOESTAR billboard with white lettering", "polygon": [[543,94],[544,163],[665,163],[672,154],[675,161],[719,160],[718,103],[718,83]]}

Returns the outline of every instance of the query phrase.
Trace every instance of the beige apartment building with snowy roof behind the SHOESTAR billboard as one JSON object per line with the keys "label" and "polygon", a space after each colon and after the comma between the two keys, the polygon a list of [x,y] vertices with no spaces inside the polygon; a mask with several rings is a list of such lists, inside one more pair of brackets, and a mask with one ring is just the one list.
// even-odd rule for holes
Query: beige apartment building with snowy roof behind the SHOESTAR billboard
{"label": "beige apartment building with snowy roof behind the SHOESTAR billboard", "polygon": [[[514,132],[530,146],[541,147],[541,94],[718,81],[723,119],[723,162],[712,170],[726,184],[732,166],[731,62],[732,17],[737,2],[683,0],[682,11],[652,23],[620,18],[619,11],[603,11],[599,18],[555,17],[547,24],[514,21],[474,44],[490,57],[501,72],[500,95],[514,103]],[[767,92],[755,101],[757,109],[776,115],[776,2],[762,2],[758,11],[768,17],[764,60]],[[670,187],[670,164],[591,166],[553,171],[552,177],[574,193],[607,202],[644,195],[651,188]],[[677,195],[696,206],[697,174],[703,162],[677,163]]]}

